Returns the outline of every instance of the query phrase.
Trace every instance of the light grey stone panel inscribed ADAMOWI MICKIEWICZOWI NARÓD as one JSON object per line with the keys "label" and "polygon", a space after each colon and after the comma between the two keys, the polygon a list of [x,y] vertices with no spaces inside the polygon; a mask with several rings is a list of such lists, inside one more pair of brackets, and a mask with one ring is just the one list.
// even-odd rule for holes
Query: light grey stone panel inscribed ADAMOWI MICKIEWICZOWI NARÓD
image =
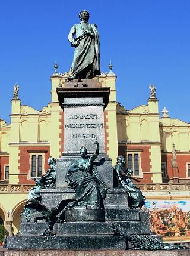
{"label": "light grey stone panel inscribed ADAMOWI MICKIEWICZOWI NAR\u00d3D", "polygon": [[103,99],[66,98],[64,100],[64,153],[78,153],[81,146],[94,153],[94,140],[105,153]]}

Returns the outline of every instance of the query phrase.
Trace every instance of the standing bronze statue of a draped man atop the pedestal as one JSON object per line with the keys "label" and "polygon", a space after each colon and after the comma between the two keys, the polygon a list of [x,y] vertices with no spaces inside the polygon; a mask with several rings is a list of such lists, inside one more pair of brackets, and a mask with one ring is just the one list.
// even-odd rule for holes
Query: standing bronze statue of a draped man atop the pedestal
{"label": "standing bronze statue of a draped man atop the pedestal", "polygon": [[88,23],[89,13],[79,13],[81,22],[72,26],[68,39],[75,47],[72,79],[92,79],[100,75],[99,33],[95,24]]}

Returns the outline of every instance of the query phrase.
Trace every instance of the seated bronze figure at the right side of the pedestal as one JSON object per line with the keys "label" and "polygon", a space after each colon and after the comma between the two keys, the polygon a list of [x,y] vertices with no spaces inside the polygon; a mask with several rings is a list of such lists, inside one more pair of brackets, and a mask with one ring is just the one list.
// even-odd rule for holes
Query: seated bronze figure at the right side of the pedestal
{"label": "seated bronze figure at the right side of the pedestal", "polygon": [[132,176],[132,169],[125,169],[124,156],[118,156],[117,163],[114,166],[114,176],[118,183],[118,187],[124,187],[128,190],[129,207],[131,209],[141,208],[145,203],[145,196],[138,187],[135,186],[132,180],[139,182],[139,180]]}

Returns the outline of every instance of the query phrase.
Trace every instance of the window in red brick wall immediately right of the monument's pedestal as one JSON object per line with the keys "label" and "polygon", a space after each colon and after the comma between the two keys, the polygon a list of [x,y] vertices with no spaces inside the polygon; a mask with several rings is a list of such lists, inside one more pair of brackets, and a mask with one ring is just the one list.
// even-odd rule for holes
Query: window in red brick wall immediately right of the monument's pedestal
{"label": "window in red brick wall immediately right of the monument's pedestal", "polygon": [[133,175],[140,177],[141,176],[141,157],[140,153],[129,152],[127,153],[127,167],[132,169]]}

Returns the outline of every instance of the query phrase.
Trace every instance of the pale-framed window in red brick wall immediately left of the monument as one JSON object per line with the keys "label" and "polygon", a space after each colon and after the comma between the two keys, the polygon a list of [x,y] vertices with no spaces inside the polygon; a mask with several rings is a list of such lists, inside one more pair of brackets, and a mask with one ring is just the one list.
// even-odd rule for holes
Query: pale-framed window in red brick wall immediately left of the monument
{"label": "pale-framed window in red brick wall immediately left of the monument", "polygon": [[43,155],[35,154],[30,157],[30,175],[31,178],[41,177],[42,176],[42,167],[43,167]]}

